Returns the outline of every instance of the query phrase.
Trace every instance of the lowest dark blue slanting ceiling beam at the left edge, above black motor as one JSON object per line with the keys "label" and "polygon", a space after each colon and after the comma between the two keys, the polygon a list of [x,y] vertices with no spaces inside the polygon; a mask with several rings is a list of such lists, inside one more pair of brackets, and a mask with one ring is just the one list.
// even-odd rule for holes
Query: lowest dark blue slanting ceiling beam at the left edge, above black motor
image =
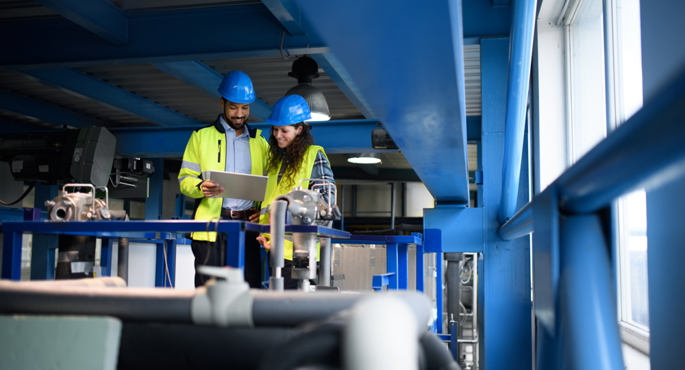
{"label": "lowest dark blue slanting ceiling beam at the left edge, above black motor", "polygon": [[81,116],[55,105],[37,101],[26,96],[0,90],[0,111],[19,114],[41,122],[82,128],[88,126],[107,126],[108,124],[94,118]]}

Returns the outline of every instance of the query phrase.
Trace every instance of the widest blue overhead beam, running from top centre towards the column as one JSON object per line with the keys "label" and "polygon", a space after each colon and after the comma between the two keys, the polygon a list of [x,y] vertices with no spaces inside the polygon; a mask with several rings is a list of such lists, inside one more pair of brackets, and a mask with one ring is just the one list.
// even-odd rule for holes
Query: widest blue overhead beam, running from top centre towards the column
{"label": "widest blue overhead beam, running from top centre towards the column", "polygon": [[299,3],[432,196],[467,204],[462,2]]}

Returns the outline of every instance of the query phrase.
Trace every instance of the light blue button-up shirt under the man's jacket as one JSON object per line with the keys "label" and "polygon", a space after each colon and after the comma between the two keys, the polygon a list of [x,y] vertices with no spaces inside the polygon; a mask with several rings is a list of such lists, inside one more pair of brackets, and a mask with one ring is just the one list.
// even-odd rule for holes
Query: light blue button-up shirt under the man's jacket
{"label": "light blue button-up shirt under the man's jacket", "polygon": [[[250,137],[247,127],[241,135],[236,136],[236,130],[226,123],[223,116],[221,116],[221,124],[226,131],[226,172],[250,174],[252,172],[252,160],[250,157]],[[252,206],[251,200],[223,198],[223,208],[242,211]]]}

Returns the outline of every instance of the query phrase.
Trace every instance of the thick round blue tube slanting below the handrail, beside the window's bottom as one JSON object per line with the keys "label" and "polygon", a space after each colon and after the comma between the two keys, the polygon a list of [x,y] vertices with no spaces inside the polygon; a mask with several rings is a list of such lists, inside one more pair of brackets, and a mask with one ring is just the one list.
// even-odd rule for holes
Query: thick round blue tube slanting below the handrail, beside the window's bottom
{"label": "thick round blue tube slanting below the handrail, beside the window's bottom", "polygon": [[558,306],[567,361],[560,360],[560,368],[623,370],[609,248],[599,215],[562,217],[560,247]]}

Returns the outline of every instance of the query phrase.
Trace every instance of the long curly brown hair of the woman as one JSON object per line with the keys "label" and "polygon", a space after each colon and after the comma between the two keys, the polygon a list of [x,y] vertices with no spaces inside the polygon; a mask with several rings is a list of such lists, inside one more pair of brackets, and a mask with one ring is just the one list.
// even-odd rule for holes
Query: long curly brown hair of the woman
{"label": "long curly brown hair of the woman", "polygon": [[295,172],[302,165],[304,152],[310,145],[314,145],[314,137],[310,133],[312,131],[310,125],[299,122],[290,126],[295,127],[296,130],[302,127],[302,131],[285,148],[278,147],[278,141],[273,135],[273,126],[271,127],[271,130],[269,130],[269,154],[266,155],[266,161],[269,162],[266,168],[269,169],[269,174],[277,172],[278,165],[282,161],[285,163],[286,167],[281,169],[283,171],[281,181],[285,181],[284,186],[286,188],[295,185]]}

